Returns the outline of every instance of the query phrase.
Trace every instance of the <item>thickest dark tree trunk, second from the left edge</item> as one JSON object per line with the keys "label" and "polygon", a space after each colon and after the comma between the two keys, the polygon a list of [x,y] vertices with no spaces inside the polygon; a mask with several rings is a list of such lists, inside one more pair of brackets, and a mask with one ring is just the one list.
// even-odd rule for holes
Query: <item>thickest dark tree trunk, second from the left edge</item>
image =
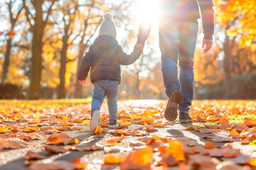
{"label": "thickest dark tree trunk, second from the left edge", "polygon": [[41,70],[42,70],[42,38],[43,38],[43,0],[33,1],[36,10],[32,41],[32,66],[28,98],[39,99],[41,96]]}

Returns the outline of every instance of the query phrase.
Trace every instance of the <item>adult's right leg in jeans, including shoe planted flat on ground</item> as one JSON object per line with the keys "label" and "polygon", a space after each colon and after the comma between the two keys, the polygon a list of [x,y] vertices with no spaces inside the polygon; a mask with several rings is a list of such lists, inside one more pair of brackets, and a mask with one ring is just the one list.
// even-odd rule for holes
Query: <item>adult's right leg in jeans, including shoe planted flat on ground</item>
{"label": "adult's right leg in jeans, including shoe planted flat on ground", "polygon": [[[181,82],[182,101],[178,106],[180,121],[188,122],[188,111],[193,100],[193,55],[196,47],[198,24],[181,24],[181,36],[179,47],[179,66],[181,68],[179,80]],[[186,119],[186,117],[188,119]]]}

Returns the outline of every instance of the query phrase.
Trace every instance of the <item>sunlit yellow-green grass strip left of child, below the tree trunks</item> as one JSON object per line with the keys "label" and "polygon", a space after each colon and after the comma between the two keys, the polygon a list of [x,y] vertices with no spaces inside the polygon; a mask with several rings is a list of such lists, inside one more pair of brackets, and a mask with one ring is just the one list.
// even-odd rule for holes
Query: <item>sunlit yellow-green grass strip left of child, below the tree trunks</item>
{"label": "sunlit yellow-green grass strip left of child, below the tree trunks", "polygon": [[54,100],[0,100],[0,106],[65,106],[80,103],[90,103],[92,98],[54,99]]}

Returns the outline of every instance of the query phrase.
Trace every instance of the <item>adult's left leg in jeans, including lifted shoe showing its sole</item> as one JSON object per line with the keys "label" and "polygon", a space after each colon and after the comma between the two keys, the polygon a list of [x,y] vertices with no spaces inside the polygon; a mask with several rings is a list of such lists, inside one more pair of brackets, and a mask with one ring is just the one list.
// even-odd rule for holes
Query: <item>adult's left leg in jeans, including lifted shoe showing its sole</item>
{"label": "adult's left leg in jeans, including lifted shoe showing its sole", "polygon": [[169,101],[164,112],[166,120],[177,118],[178,104],[181,103],[181,86],[178,81],[178,43],[179,30],[177,23],[159,23],[159,46],[161,50],[161,71]]}

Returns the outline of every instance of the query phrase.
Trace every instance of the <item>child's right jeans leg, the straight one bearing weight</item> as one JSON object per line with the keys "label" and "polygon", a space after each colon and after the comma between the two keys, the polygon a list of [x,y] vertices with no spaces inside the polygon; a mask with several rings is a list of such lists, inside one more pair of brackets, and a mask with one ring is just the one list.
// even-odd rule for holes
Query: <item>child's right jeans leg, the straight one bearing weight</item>
{"label": "child's right jeans leg, the straight one bearing weight", "polygon": [[107,95],[107,106],[110,113],[110,124],[113,124],[117,120],[117,96],[119,89],[119,81],[109,80],[107,86],[106,95]]}

